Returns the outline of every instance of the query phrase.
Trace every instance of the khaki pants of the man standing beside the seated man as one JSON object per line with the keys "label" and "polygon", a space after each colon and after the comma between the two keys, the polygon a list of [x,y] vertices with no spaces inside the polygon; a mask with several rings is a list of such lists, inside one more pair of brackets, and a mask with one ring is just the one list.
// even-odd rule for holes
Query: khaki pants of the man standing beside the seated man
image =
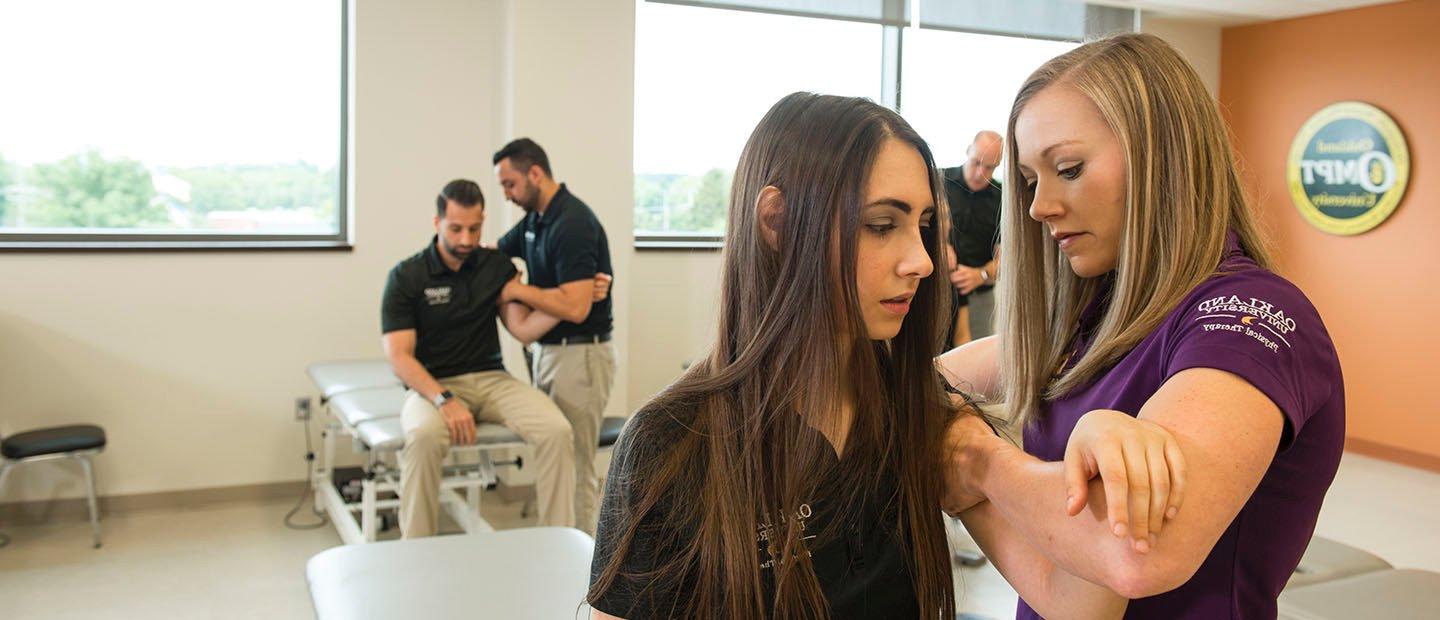
{"label": "khaki pants of the man standing beside the seated man", "polygon": [[615,381],[615,345],[536,344],[531,354],[536,387],[560,406],[575,429],[575,526],[593,537],[600,498],[595,450]]}

